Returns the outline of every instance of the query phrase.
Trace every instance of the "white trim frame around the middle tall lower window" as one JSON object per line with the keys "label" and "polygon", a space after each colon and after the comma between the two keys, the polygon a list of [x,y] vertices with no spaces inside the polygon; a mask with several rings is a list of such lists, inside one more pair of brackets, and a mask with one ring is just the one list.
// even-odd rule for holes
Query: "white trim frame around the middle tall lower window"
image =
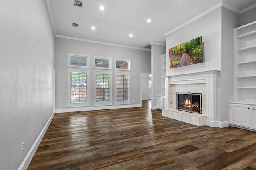
{"label": "white trim frame around the middle tall lower window", "polygon": [[[110,95],[110,101],[109,102],[96,102],[96,86],[95,86],[95,81],[96,81],[96,78],[95,78],[95,75],[96,74],[110,74],[110,92],[109,92],[109,95]],[[111,71],[107,71],[107,70],[94,70],[94,106],[106,106],[106,105],[112,105],[112,72]]]}

